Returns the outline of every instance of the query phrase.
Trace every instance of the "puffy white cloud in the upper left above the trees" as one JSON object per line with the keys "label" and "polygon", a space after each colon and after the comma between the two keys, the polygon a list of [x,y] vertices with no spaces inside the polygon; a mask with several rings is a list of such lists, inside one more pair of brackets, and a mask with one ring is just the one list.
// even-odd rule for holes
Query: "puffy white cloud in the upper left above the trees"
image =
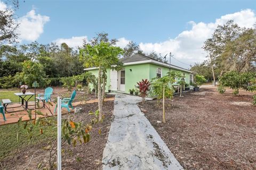
{"label": "puffy white cloud in the upper left above the trees", "polygon": [[49,22],[49,16],[36,14],[35,10],[29,11],[18,19],[20,23],[18,33],[20,40],[35,41],[44,32],[45,23]]}

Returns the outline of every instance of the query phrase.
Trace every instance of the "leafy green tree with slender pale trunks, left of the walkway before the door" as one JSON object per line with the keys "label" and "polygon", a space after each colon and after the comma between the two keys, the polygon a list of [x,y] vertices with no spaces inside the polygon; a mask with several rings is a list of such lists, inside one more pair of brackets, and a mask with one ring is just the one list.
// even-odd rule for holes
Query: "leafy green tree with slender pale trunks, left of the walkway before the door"
{"label": "leafy green tree with slender pale trunks, left of the walkway before the door", "polygon": [[81,60],[85,67],[98,67],[98,100],[99,100],[99,117],[102,118],[102,75],[103,71],[111,68],[112,65],[118,65],[118,56],[123,54],[123,50],[119,47],[111,46],[110,43],[90,45],[87,44],[85,48],[79,50]]}

